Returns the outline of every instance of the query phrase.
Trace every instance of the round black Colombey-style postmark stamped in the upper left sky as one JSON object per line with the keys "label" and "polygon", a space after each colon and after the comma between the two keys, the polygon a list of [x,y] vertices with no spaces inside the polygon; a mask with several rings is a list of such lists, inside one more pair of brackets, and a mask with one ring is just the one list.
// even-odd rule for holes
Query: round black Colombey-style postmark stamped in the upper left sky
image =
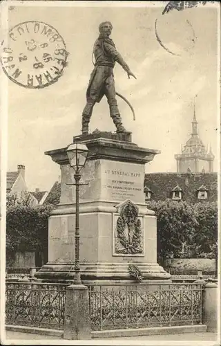
{"label": "round black Colombey-style postmark stamped in the upper left sky", "polygon": [[67,65],[63,37],[43,21],[25,21],[10,29],[1,46],[1,66],[12,82],[41,89],[57,82]]}

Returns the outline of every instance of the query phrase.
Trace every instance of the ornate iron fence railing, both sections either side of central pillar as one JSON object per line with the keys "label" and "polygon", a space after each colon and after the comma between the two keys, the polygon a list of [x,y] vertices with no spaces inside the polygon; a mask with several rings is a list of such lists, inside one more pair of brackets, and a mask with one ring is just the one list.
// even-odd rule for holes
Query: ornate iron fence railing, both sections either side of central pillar
{"label": "ornate iron fence railing, both sections either side of central pillar", "polygon": [[[6,325],[64,329],[68,285],[6,282]],[[87,286],[92,330],[202,323],[202,283]]]}

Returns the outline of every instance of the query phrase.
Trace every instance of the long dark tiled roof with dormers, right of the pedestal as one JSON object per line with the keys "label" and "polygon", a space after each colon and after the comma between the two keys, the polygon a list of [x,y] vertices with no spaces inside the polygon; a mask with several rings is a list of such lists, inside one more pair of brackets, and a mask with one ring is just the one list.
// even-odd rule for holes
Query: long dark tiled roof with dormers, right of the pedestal
{"label": "long dark tiled roof with dormers, right of the pedestal", "polygon": [[164,201],[171,198],[176,185],[182,189],[182,199],[189,203],[198,202],[198,190],[202,185],[208,189],[208,201],[218,199],[217,173],[149,173],[145,174],[144,186],[153,191],[151,199]]}

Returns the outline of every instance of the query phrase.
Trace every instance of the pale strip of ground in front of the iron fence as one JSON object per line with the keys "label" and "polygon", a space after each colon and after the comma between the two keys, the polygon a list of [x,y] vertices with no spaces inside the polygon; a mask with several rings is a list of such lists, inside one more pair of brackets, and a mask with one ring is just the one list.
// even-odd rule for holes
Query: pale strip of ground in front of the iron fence
{"label": "pale strip of ground in front of the iron fence", "polygon": [[[39,334],[21,333],[19,331],[6,331],[6,340],[64,340],[63,338],[58,338],[56,336],[42,336]],[[93,339],[98,340],[98,339]],[[167,335],[150,335],[150,336],[128,336],[122,338],[105,338],[105,340],[156,340],[156,341],[215,341],[217,340],[217,334],[215,333],[185,333],[185,334],[167,334]],[[215,345],[215,344],[214,344]],[[216,345],[219,345],[218,343]],[[188,346],[190,344],[188,343]]]}

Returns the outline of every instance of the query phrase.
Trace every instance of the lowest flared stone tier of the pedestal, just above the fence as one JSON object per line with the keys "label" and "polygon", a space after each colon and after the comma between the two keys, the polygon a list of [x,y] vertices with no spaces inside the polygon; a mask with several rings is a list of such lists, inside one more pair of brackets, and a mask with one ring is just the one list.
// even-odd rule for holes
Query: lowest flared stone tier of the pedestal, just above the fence
{"label": "lowest flared stone tier of the pedestal, just above the fence", "polygon": [[[171,275],[159,264],[136,263],[144,280],[165,280]],[[133,280],[128,273],[128,263],[81,263],[81,280]],[[75,276],[74,263],[48,263],[41,267],[35,277],[42,280],[73,280]],[[133,280],[134,281],[134,280]]]}

